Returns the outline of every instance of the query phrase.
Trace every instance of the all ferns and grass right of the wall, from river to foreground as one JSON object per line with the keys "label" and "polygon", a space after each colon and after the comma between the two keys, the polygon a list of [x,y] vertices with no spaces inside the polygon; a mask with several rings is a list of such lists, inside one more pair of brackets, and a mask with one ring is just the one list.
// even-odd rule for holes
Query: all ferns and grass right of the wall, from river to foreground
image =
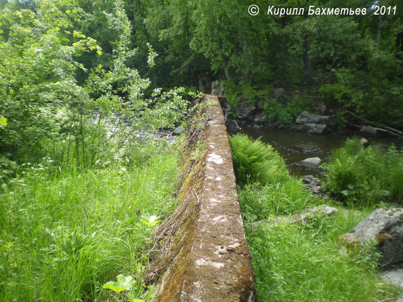
{"label": "all ferns and grass right of the wall, from river to foreground", "polygon": [[[259,182],[248,176],[237,178],[259,301],[366,302],[388,301],[398,295],[397,287],[376,276],[379,255],[373,246],[365,251],[346,251],[338,240],[373,207],[358,211],[353,204],[349,209],[337,206],[339,211],[332,217],[314,213],[300,224],[258,222],[301,212],[324,201],[288,174],[284,160],[271,146],[245,135],[234,135],[230,143],[234,168],[252,166],[254,175],[260,177]],[[236,149],[238,145],[241,147]],[[271,167],[271,175],[265,178],[262,175],[267,167]],[[251,170],[235,170],[235,174],[238,177],[244,171]]]}

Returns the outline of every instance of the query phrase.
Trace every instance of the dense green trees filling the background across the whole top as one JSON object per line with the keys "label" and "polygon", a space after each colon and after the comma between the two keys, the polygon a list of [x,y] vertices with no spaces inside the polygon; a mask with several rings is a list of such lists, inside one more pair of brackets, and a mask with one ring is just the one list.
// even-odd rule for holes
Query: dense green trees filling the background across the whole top
{"label": "dense green trees filling the background across the whole top", "polygon": [[[232,104],[239,94],[266,101],[284,87],[344,109],[334,113],[341,124],[349,111],[403,127],[403,3],[377,1],[389,10],[376,14],[373,1],[272,2],[290,12],[304,8],[281,17],[268,14],[264,1],[254,4],[256,16],[244,1],[2,0],[2,165],[46,155],[56,137],[74,136],[77,157],[96,148],[83,117],[101,112],[100,123],[126,109],[144,127],[139,111],[169,110],[167,94],[184,96],[171,88],[195,91],[213,80],[225,82]],[[316,15],[309,6],[366,13]]]}

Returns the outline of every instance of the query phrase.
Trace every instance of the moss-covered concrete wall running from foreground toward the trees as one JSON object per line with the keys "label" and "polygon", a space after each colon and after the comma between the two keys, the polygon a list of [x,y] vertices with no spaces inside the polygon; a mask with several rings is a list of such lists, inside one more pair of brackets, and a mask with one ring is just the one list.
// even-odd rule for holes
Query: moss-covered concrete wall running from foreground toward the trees
{"label": "moss-covered concrete wall running from foreground toward the trees", "polygon": [[156,233],[155,301],[257,301],[223,112],[218,97],[205,95],[199,105],[183,149],[178,208]]}

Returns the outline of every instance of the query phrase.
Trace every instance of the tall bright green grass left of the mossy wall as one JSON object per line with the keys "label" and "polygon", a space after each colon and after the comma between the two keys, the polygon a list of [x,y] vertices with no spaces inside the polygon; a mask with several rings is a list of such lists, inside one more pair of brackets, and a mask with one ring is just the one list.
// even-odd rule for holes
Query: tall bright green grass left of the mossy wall
{"label": "tall bright green grass left of the mossy wall", "polygon": [[[2,301],[148,300],[153,216],[174,209],[177,168],[173,152],[142,165],[26,164],[0,192]],[[102,288],[119,274],[133,277],[130,292]]]}

